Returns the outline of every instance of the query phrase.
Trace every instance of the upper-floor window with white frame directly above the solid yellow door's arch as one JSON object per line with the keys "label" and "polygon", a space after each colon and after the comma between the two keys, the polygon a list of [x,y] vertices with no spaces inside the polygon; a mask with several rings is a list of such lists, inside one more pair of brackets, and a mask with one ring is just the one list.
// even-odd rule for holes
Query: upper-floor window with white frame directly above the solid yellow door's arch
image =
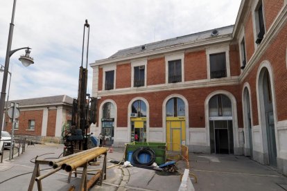
{"label": "upper-floor window with white frame directly above the solid yellow door's arch", "polygon": [[166,55],[166,83],[184,82],[184,53]]}

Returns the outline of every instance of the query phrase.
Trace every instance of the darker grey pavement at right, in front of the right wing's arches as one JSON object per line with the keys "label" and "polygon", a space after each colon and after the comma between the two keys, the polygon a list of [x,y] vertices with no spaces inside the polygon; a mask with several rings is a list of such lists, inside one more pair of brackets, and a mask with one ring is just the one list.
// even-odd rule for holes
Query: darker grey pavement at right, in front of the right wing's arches
{"label": "darker grey pavement at right, in front of the right wing's arches", "polygon": [[287,190],[287,178],[245,156],[189,154],[195,190]]}

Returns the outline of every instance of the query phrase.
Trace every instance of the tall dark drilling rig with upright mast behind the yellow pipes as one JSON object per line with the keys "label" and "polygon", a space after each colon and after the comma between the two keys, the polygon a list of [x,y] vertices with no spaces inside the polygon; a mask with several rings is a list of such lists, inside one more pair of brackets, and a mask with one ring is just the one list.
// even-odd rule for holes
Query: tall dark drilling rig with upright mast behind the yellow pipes
{"label": "tall dark drilling rig with upright mast behind the yellow pipes", "polygon": [[[85,37],[86,33],[87,37]],[[83,65],[84,51],[86,53],[85,65]],[[97,100],[87,93],[88,53],[89,24],[86,19],[82,38],[82,64],[79,71],[78,98],[73,99],[71,126],[62,131],[64,156],[73,154],[76,150],[89,149],[89,127],[92,123],[96,123]]]}

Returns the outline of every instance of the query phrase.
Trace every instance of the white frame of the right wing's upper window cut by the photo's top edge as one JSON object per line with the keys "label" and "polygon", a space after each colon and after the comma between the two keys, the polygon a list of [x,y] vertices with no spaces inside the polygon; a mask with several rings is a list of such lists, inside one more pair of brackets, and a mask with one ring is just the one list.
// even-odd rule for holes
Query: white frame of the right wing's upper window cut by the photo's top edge
{"label": "white frame of the right wing's upper window cut by the photo's top edge", "polygon": [[262,12],[263,12],[263,21],[264,21],[264,30],[265,30],[265,34],[263,36],[263,39],[266,35],[266,18],[265,18],[265,14],[264,14],[264,1],[263,0],[256,0],[253,1],[252,4],[252,23],[253,23],[253,37],[254,37],[254,47],[257,48],[259,46],[259,44],[256,44],[256,39],[257,39],[257,35],[259,33],[259,18],[258,18],[258,8],[259,8],[259,3],[262,3]]}

